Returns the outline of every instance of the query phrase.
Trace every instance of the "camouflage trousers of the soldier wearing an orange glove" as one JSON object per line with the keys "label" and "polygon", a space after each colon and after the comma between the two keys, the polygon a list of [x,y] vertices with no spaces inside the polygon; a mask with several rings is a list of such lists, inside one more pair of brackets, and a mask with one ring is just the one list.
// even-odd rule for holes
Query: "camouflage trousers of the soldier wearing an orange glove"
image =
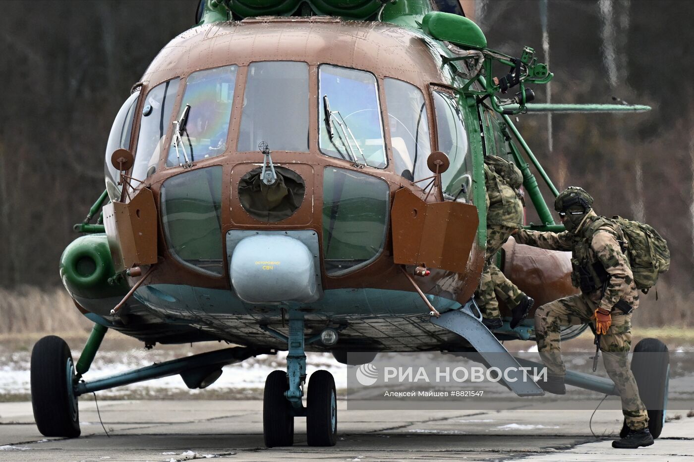
{"label": "camouflage trousers of the soldier wearing an orange glove", "polygon": [[[581,294],[559,298],[535,311],[537,348],[550,374],[563,376],[566,373],[559,348],[561,326],[592,323],[595,308],[595,304]],[[630,429],[641,430],[648,427],[648,413],[629,369],[627,355],[632,348],[632,315],[615,309],[611,317],[612,325],[600,339],[602,361],[619,391],[627,425]]]}

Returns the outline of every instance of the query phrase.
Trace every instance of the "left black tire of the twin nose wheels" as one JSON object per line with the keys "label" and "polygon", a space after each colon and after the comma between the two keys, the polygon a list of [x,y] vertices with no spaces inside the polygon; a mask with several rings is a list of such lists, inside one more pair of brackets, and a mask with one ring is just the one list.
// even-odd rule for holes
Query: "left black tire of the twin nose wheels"
{"label": "left black tire of the twin nose wheels", "polygon": [[287,389],[284,370],[273,370],[267,376],[262,402],[262,432],[267,447],[294,444],[294,416],[285,397]]}

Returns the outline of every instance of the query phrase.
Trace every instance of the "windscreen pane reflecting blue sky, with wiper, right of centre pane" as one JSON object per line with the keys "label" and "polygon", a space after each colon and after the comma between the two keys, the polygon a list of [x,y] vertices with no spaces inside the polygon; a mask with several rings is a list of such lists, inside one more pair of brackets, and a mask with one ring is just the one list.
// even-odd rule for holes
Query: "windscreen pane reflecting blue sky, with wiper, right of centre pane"
{"label": "windscreen pane reflecting blue sky, with wiper, right of centre pane", "polygon": [[321,65],[318,120],[323,154],[385,168],[383,123],[373,74]]}

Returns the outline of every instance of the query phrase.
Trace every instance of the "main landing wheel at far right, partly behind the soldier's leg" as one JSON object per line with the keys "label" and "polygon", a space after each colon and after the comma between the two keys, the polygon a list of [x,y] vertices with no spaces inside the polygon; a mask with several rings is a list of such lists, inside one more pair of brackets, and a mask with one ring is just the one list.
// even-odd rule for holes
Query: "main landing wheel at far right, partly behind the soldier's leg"
{"label": "main landing wheel at far right, partly behind the soldier's leg", "polygon": [[[658,438],[663,431],[668,411],[670,357],[667,345],[658,339],[643,339],[638,342],[634,347],[632,373],[638,385],[638,395],[648,409],[648,430],[653,438]],[[628,431],[625,420],[620,438],[627,436]]]}

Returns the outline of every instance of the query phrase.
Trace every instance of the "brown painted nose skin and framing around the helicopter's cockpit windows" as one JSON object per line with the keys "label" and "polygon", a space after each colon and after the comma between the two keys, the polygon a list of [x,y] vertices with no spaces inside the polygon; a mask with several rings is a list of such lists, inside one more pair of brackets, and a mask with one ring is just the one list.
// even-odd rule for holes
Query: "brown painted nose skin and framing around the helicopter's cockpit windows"
{"label": "brown painted nose skin and framing around the helicopter's cockpit windows", "polygon": [[[225,153],[196,161],[194,169],[205,166],[221,165],[223,167],[222,195],[222,234],[231,229],[258,229],[259,223],[249,220],[246,212],[240,207],[235,194],[237,169],[249,163],[262,162],[259,151],[237,152],[237,139],[241,122],[241,110],[244,101],[244,89],[248,64],[262,61],[298,61],[309,65],[309,152],[298,153],[273,151],[273,162],[292,169],[303,169],[298,164],[310,164],[313,178],[307,180],[312,184],[312,198],[306,197],[305,203],[312,203],[312,210],[301,210],[295,217],[278,223],[262,224],[264,230],[313,229],[319,233],[322,242],[322,194],[323,169],[325,166],[338,166],[341,169],[353,169],[386,180],[389,184],[391,204],[395,191],[401,187],[412,190],[421,198],[425,197],[421,188],[405,180],[391,169],[393,155],[389,144],[389,123],[387,101],[384,94],[383,78],[397,78],[416,85],[425,95],[425,105],[430,121],[430,143],[432,149],[437,146],[433,109],[429,88],[431,83],[450,85],[453,80],[448,67],[442,67],[439,49],[425,36],[414,31],[392,24],[367,22],[342,22],[339,19],[325,18],[266,18],[248,19],[243,22],[228,22],[199,26],[180,34],[162,49],[153,60],[142,78],[142,94],[146,95],[159,83],[171,78],[180,77],[174,117],[180,114],[180,101],[185,91],[185,79],[189,74],[201,69],[211,69],[226,65],[238,65],[234,102],[232,105],[231,123],[228,132],[228,148]],[[385,169],[366,167],[356,169],[353,162],[328,157],[320,153],[319,137],[319,101],[317,98],[318,66],[321,64],[338,65],[369,71],[378,79],[378,96],[381,102],[381,119],[384,124],[384,139],[387,146],[389,166]],[[140,99],[137,114],[142,113],[144,98]],[[170,122],[170,121],[169,121]],[[139,118],[133,128],[133,144],[139,131]],[[171,143],[171,134],[167,136],[164,146]],[[137,146],[135,146],[136,148]],[[162,153],[167,153],[162,149]],[[144,182],[150,187],[155,200],[159,203],[162,182],[171,176],[189,171],[182,167],[167,168],[164,156],[160,158],[157,172]],[[245,171],[245,169],[244,169]],[[303,173],[302,173],[303,174]],[[310,194],[307,189],[307,194]],[[435,194],[430,196],[434,200]],[[303,207],[302,207],[303,208]],[[312,214],[312,217],[311,217]],[[306,223],[310,223],[307,225]],[[228,262],[225,262],[225,274],[221,277],[210,277],[198,273],[171,257],[166,248],[162,227],[159,227],[159,255],[164,259],[152,273],[148,283],[187,284],[214,289],[231,289],[228,278]],[[477,246],[469,255],[466,273],[432,271],[427,278],[419,278],[418,284],[426,293],[454,298],[459,302],[468,300],[479,281],[484,251]],[[468,259],[468,255],[462,256]],[[384,252],[369,266],[343,277],[328,277],[323,271],[324,289],[375,287],[379,289],[399,289],[414,291],[404,275],[393,264],[390,233]]]}

